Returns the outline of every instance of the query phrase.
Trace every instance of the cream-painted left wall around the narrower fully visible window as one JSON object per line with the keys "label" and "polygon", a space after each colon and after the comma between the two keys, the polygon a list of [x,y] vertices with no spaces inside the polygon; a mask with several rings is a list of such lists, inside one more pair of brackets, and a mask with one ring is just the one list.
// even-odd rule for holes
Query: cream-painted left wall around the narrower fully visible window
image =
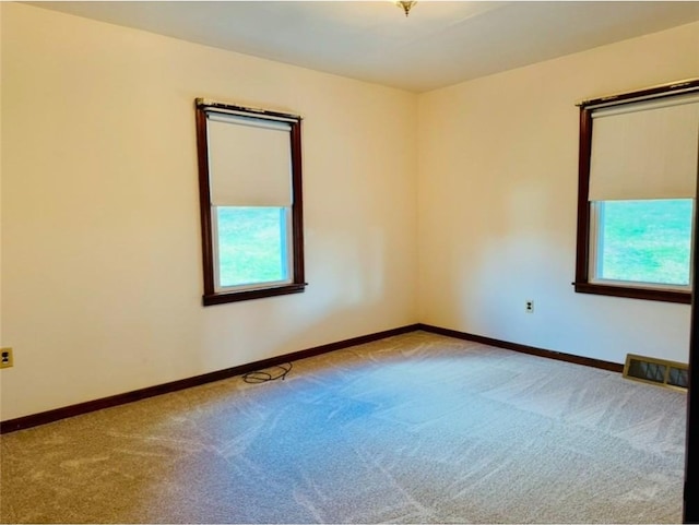
{"label": "cream-painted left wall around the narrower fully visible window", "polygon": [[[2,5],[3,420],[411,324],[417,96]],[[201,307],[194,97],[304,116],[305,294]]]}

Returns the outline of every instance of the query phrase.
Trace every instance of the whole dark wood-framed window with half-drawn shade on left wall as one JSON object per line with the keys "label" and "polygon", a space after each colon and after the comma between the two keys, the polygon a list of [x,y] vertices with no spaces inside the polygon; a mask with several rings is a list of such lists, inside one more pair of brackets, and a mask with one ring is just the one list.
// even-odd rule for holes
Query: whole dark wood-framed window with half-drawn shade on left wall
{"label": "whole dark wood-framed window with half-drawn shade on left wall", "polygon": [[300,117],[197,99],[204,306],[304,291]]}

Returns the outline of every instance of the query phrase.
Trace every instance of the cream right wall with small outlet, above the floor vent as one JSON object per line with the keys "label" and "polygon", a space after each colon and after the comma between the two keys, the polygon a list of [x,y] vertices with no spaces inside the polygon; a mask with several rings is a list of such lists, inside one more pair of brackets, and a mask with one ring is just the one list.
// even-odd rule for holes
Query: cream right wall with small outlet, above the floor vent
{"label": "cream right wall with small outlet, above the floor vent", "polygon": [[420,321],[615,362],[627,353],[686,362],[689,306],[570,283],[576,103],[691,76],[697,23],[422,96]]}

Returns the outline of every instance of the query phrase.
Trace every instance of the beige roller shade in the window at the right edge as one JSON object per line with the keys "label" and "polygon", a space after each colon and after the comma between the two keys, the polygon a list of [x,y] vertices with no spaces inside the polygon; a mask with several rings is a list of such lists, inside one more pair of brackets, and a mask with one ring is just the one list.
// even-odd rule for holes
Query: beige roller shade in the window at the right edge
{"label": "beige roller shade in the window at the right edge", "polygon": [[591,201],[694,199],[699,95],[594,110]]}

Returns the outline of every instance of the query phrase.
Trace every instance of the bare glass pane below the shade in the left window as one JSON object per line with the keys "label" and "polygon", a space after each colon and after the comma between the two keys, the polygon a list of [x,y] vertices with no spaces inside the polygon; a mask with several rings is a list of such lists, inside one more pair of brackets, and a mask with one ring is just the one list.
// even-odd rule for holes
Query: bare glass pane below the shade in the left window
{"label": "bare glass pane below the shade in the left window", "polygon": [[217,206],[218,287],[287,282],[284,207]]}

